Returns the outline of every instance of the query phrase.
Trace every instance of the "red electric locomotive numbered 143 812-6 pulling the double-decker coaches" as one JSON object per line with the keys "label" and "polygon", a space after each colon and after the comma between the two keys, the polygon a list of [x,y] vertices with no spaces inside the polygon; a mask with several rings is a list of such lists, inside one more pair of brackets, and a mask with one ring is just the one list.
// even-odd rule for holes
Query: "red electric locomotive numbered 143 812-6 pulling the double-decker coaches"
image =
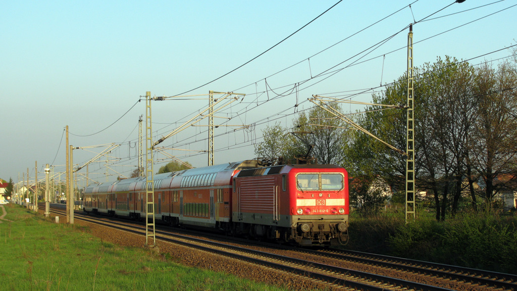
{"label": "red electric locomotive numbered 143 812-6 pulling the double-decker coaches", "polygon": [[282,165],[241,170],[233,179],[237,234],[299,245],[348,240],[348,175],[333,165]]}

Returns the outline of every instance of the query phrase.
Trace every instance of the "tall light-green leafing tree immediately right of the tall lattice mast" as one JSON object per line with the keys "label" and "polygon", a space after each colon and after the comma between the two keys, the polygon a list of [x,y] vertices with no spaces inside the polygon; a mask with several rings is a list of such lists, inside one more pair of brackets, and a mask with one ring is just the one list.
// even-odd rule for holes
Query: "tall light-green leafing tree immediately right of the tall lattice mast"
{"label": "tall light-green leafing tree immediately right of the tall lattice mast", "polygon": [[452,214],[457,212],[463,193],[467,140],[476,108],[470,97],[473,72],[467,62],[438,57],[422,66],[415,85],[419,181],[434,195],[437,220],[445,220],[449,206]]}

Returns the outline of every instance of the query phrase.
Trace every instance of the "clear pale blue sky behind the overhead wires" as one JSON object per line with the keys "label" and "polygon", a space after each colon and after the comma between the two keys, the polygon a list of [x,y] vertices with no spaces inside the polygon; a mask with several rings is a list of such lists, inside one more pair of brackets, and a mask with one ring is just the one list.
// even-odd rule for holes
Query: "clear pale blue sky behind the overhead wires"
{"label": "clear pale blue sky behind the overhead wires", "polygon": [[[436,11],[439,12],[429,17],[432,20],[414,25],[415,66],[434,62],[437,56],[470,59],[514,45],[517,6],[511,6],[517,1],[495,2],[466,0],[439,11],[452,1],[342,1],[248,65],[188,93],[214,90],[247,94],[244,101],[239,100],[219,115],[233,117],[228,124],[255,126],[235,132],[235,127],[217,128],[215,133],[220,136],[215,140],[216,164],[253,158],[253,143],[261,141],[261,129],[279,117],[284,126],[291,125],[294,105],[298,102],[300,109],[308,108],[307,98],[313,94],[375,88],[381,82],[397,79],[406,70],[408,30],[398,32]],[[114,161],[110,167],[129,176],[138,164],[134,146],[139,116],[145,117],[145,102],[127,111],[140,96],[146,91],[172,96],[224,75],[336,3],[337,0],[4,1],[0,4],[0,178],[16,182],[18,175],[21,179],[29,168],[29,176],[34,179],[35,161],[39,171],[46,163],[54,165],[56,172],[63,171],[66,125],[70,128],[70,144],[75,147],[121,144],[109,157]],[[434,19],[490,3],[495,4]],[[509,9],[488,16],[505,8]],[[313,56],[399,9],[402,10],[390,18]],[[483,16],[488,17],[477,20]],[[446,32],[470,21],[474,22]],[[375,57],[373,60],[332,76],[311,79],[343,61],[336,68],[352,64],[364,54],[359,54],[363,50],[396,33],[360,59]],[[443,34],[435,36],[440,33]],[[359,56],[353,57],[356,54]],[[504,50],[470,63],[508,55]],[[300,61],[303,62],[273,75]],[[300,86],[293,94],[277,95],[291,92],[296,83]],[[368,101],[370,96],[371,92],[356,100]],[[207,100],[154,102],[155,140],[206,105]],[[97,133],[120,117],[100,133],[80,137]],[[206,150],[206,137],[206,127],[191,127],[161,145]],[[84,163],[102,150],[74,151],[74,162]],[[206,154],[182,158],[196,167],[207,163]],[[105,173],[104,165],[96,163],[90,166],[90,172]],[[155,165],[155,172],[159,166]],[[110,179],[118,176],[112,170],[109,174],[113,175]],[[42,177],[40,172],[38,178]],[[96,178],[93,173],[90,178],[105,181],[105,177]]]}

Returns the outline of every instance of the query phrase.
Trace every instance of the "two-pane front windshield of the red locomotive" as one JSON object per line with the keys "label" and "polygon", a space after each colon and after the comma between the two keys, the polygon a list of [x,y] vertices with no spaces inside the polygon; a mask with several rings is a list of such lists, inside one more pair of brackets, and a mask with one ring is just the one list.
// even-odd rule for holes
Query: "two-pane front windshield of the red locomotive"
{"label": "two-pane front windshield of the red locomotive", "polygon": [[343,175],[339,173],[307,173],[296,176],[296,186],[302,191],[342,190]]}

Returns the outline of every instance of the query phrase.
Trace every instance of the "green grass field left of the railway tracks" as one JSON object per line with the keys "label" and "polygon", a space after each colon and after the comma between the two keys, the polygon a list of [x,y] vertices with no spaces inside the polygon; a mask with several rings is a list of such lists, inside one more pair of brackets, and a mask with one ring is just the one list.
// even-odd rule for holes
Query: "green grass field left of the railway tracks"
{"label": "green grass field left of the railway tracks", "polygon": [[0,224],[0,290],[284,290],[102,242],[17,205]]}

